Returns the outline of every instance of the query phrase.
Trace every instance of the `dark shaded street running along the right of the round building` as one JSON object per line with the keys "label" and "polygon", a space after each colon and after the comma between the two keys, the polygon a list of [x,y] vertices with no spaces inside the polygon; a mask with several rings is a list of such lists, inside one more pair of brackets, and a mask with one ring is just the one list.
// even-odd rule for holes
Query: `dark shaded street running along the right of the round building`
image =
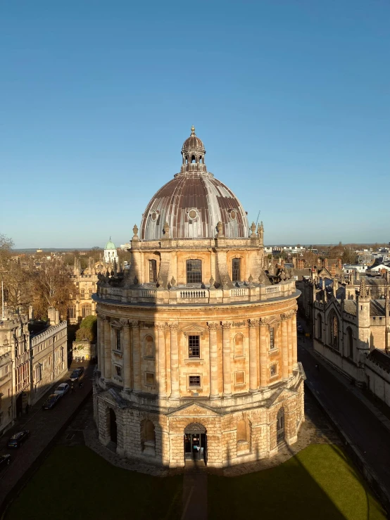
{"label": "dark shaded street running along the right of the round building", "polygon": [[332,374],[332,369],[314,353],[312,340],[298,338],[298,361],[302,362],[315,393],[390,492],[389,431],[348,388],[348,379],[345,378],[346,384],[342,383],[341,376]]}

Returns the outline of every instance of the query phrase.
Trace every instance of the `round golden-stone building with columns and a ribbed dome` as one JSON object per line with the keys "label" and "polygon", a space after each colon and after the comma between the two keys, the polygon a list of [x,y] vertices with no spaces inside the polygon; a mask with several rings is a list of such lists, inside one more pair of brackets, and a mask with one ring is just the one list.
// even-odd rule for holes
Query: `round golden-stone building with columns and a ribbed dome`
{"label": "round golden-stone building with columns and a ribbed dome", "polygon": [[208,172],[192,127],[180,172],[133,228],[131,265],[99,275],[99,440],[166,467],[270,457],[304,420],[296,291],[269,272],[263,224]]}

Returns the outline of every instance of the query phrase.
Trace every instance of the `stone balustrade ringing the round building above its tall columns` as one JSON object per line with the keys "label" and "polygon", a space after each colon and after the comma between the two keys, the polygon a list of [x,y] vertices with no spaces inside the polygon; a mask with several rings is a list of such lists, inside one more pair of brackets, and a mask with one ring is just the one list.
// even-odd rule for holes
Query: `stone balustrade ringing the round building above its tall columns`
{"label": "stone balustrade ringing the round building above its tall columns", "polygon": [[94,300],[149,305],[215,305],[221,303],[246,303],[296,298],[294,280],[275,285],[247,284],[234,288],[206,288],[179,286],[170,289],[144,284],[132,288],[99,286]]}

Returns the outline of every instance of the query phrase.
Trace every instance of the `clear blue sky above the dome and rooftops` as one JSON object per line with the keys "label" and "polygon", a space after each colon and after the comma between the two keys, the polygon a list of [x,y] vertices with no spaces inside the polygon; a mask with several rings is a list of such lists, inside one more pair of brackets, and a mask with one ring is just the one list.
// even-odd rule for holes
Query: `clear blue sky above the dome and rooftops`
{"label": "clear blue sky above the dome and rooftops", "polygon": [[118,245],[206,164],[265,243],[389,241],[388,0],[5,1],[0,233]]}

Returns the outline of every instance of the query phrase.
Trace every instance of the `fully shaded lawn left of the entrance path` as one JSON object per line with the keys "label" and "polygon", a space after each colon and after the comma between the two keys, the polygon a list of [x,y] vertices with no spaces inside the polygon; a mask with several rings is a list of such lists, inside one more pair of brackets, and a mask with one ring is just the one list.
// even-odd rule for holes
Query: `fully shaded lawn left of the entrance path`
{"label": "fully shaded lawn left of the entrance path", "polygon": [[176,520],[182,482],[182,476],[158,478],[120,469],[84,446],[57,446],[6,520]]}

